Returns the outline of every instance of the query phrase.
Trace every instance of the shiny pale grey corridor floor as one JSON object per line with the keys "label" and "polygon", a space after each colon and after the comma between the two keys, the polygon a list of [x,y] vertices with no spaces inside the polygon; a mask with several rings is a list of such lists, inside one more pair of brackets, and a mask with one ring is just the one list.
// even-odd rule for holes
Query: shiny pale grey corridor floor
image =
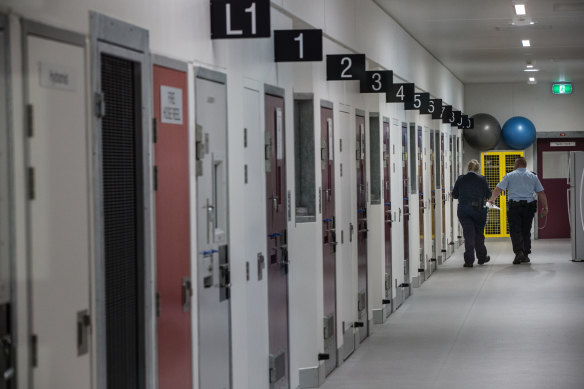
{"label": "shiny pale grey corridor floor", "polygon": [[463,268],[462,248],[328,378],[322,389],[584,388],[584,263],[568,240],[509,241]]}

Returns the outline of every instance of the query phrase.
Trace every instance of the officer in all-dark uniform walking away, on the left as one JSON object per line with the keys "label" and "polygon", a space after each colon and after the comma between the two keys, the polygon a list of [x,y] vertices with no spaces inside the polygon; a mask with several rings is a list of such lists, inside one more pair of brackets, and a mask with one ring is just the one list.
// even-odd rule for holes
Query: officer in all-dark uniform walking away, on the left
{"label": "officer in all-dark uniform walking away, on the left", "polygon": [[491,260],[485,247],[486,201],[491,197],[487,179],[479,174],[481,165],[473,159],[468,162],[468,173],[458,177],[452,197],[458,199],[458,220],[464,235],[464,267],[473,267],[475,251],[478,264]]}

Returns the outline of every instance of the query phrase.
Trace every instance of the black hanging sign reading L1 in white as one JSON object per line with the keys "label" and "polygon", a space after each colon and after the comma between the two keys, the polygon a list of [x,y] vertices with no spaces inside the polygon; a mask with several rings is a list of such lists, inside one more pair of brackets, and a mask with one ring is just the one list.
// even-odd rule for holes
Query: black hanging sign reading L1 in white
{"label": "black hanging sign reading L1 in white", "polygon": [[269,37],[270,0],[211,0],[211,39]]}

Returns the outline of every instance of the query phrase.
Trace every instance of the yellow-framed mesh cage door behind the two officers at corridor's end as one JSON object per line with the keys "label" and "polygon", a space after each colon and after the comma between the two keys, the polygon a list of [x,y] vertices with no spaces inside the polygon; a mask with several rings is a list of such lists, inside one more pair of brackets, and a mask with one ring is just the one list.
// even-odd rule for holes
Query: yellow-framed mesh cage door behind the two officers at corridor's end
{"label": "yellow-framed mesh cage door behind the two officers at corridor's end", "polygon": [[[495,189],[505,174],[513,171],[515,160],[519,157],[523,157],[523,151],[491,151],[488,153],[481,153],[482,174],[487,179],[491,190]],[[495,205],[501,208],[501,210],[489,210],[489,213],[487,214],[487,224],[485,226],[485,237],[508,237],[509,226],[507,225],[506,190],[497,198]]]}

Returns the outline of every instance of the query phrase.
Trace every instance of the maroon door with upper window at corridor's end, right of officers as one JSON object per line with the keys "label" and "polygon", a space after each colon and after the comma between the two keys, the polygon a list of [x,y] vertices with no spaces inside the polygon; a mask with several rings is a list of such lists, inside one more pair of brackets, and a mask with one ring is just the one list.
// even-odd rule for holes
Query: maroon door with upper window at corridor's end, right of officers
{"label": "maroon door with upper window at corridor's end, right of officers", "polygon": [[[537,140],[537,173],[548,198],[549,213],[538,216],[538,238],[570,237],[568,214],[568,162],[570,151],[584,151],[583,138]],[[541,204],[538,204],[541,215]]]}

